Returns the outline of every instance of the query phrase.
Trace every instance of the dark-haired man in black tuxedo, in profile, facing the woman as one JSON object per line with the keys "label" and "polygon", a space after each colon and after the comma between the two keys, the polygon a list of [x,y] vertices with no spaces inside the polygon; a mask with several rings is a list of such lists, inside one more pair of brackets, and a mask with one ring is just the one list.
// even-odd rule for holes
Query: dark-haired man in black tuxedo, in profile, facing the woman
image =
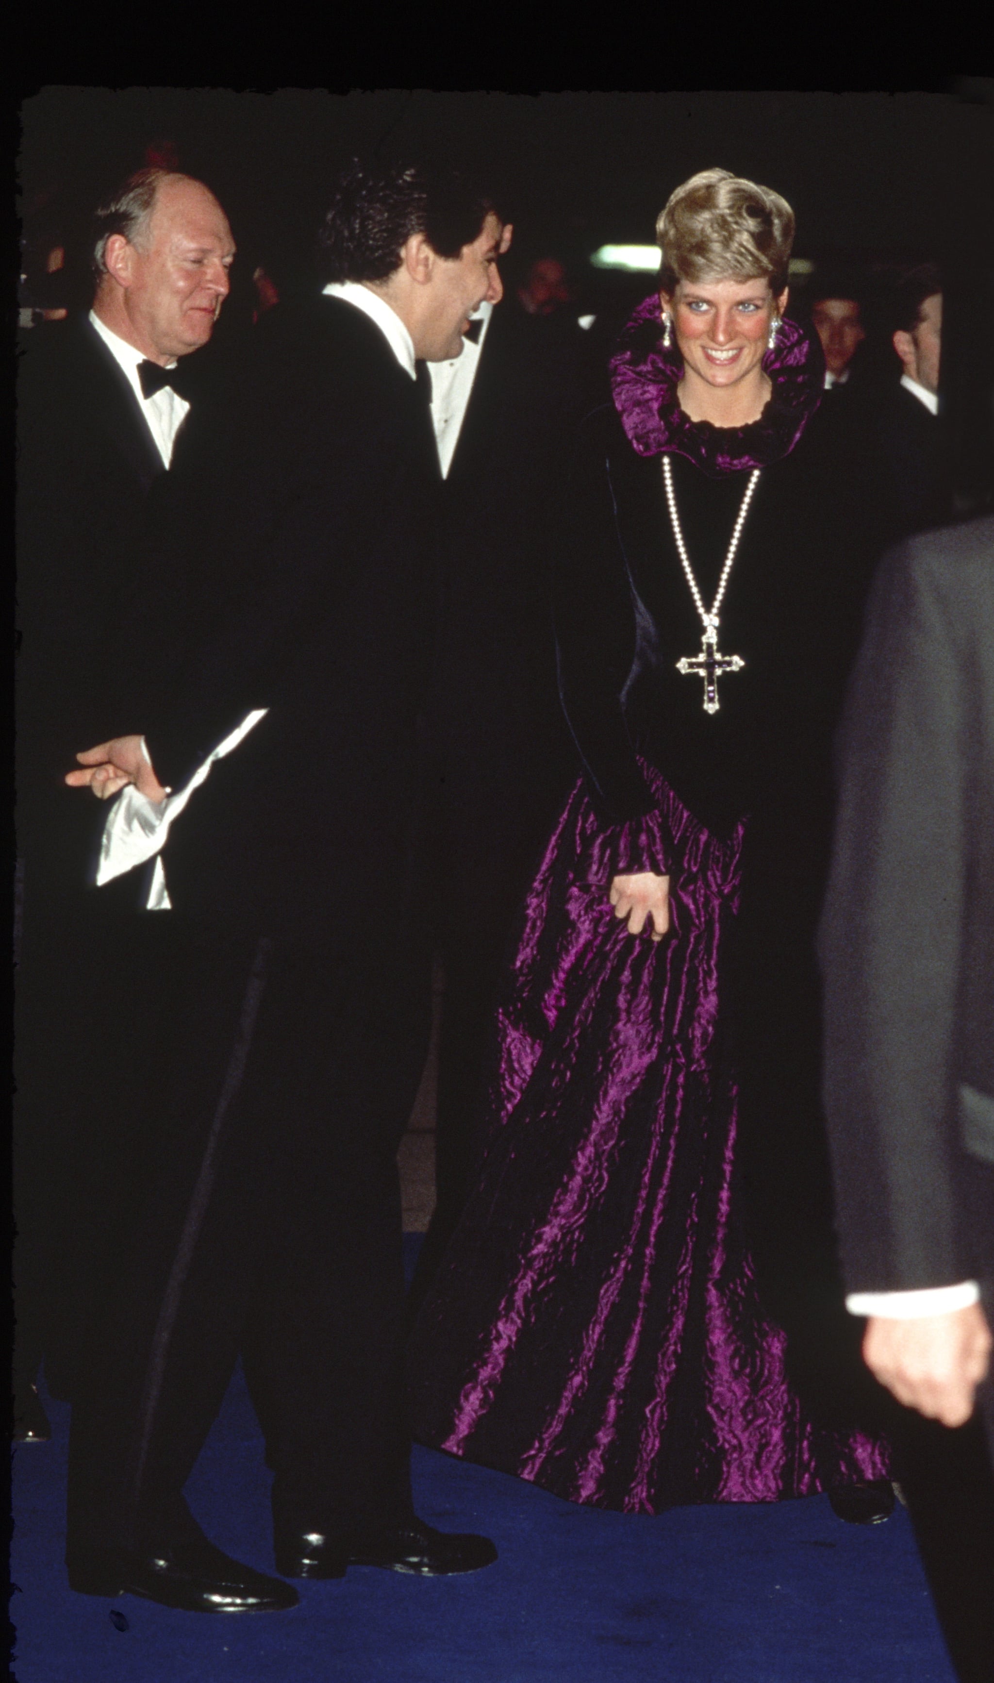
{"label": "dark-haired man in black tuxedo, in profile, facing the woman", "polygon": [[106,1025],[133,1077],[72,1399],[67,1560],[91,1594],[296,1601],[212,1548],[182,1498],[239,1353],[284,1577],[494,1558],[414,1515],[395,1156],[429,1028],[439,466],[419,365],[500,298],[501,234],[459,177],[350,168],[323,239],[338,278],[266,313],[190,433],[161,544],[183,623],[140,634],[148,672],[118,714],[143,735],[67,778],[124,791],[104,875],[188,799],[155,887],[172,907],[145,917]]}

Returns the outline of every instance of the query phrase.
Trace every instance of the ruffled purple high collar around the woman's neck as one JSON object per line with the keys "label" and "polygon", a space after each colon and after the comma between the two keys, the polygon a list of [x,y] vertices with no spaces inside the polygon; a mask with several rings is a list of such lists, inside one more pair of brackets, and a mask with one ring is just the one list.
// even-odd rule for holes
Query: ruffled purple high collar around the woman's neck
{"label": "ruffled purple high collar around the woman's neck", "polygon": [[794,449],[821,401],[821,343],[796,321],[784,320],[777,345],[762,365],[774,392],[759,421],[738,427],[691,421],[676,397],[683,357],[676,345],[663,345],[663,306],[659,293],[653,293],[631,316],[609,364],[614,406],[629,443],[639,456],[666,451],[686,456],[715,480],[780,461]]}

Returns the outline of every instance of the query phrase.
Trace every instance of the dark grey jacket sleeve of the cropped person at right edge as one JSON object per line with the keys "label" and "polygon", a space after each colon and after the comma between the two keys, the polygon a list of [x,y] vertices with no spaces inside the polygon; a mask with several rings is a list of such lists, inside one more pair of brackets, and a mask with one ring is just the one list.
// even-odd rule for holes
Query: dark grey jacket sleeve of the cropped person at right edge
{"label": "dark grey jacket sleeve of the cropped person at right edge", "polygon": [[851,1291],[989,1272],[994,520],[888,554],[841,735],[821,931],[826,1114]]}

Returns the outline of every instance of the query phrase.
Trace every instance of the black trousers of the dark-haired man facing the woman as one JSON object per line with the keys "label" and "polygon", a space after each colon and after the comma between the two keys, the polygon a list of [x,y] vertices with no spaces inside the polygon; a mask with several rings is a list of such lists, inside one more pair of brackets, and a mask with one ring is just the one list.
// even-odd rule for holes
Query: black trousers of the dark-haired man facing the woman
{"label": "black trousers of the dark-haired man facing the woman", "polygon": [[304,949],[145,914],[106,996],[79,1134],[69,1550],[182,1523],[239,1353],[278,1526],[407,1515],[395,1155],[429,944],[414,921]]}

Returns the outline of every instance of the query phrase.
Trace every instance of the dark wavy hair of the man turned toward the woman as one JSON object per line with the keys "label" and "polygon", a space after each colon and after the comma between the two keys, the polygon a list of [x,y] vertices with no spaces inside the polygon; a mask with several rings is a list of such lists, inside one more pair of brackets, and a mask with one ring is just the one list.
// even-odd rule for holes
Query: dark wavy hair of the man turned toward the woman
{"label": "dark wavy hair of the man turned toward the woman", "polygon": [[478,239],[494,200],[461,170],[353,158],[335,182],[318,234],[321,281],[385,281],[412,234],[439,257]]}

